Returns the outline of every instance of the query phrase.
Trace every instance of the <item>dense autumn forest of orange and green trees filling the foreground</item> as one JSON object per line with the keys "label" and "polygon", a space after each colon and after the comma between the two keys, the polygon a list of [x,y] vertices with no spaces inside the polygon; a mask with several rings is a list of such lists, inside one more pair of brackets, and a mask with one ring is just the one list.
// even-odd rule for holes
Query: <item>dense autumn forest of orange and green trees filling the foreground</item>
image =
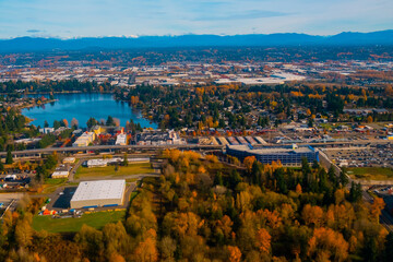
{"label": "dense autumn forest of orange and green trees filling the foreground", "polygon": [[314,163],[285,168],[248,157],[242,168],[214,155],[163,152],[123,221],[72,234],[35,231],[43,203],[24,199],[1,225],[0,261],[391,261],[384,204]]}

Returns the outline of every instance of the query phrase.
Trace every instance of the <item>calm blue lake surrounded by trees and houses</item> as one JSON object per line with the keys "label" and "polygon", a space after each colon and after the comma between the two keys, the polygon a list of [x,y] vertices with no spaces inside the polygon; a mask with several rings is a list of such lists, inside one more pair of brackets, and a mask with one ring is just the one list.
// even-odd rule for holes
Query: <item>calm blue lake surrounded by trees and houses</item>
{"label": "calm blue lake surrounded by trees and houses", "polygon": [[[44,96],[48,97],[48,95]],[[49,127],[52,127],[55,120],[67,119],[71,124],[72,118],[75,118],[79,127],[85,128],[91,117],[99,121],[111,116],[118,118],[122,127],[132,119],[135,123],[141,123],[142,128],[157,128],[156,123],[142,118],[141,112],[133,110],[128,103],[115,100],[111,94],[55,94],[55,98],[58,100],[53,104],[26,108],[22,114],[35,119],[32,123],[40,127],[44,127],[45,120],[48,121]]]}

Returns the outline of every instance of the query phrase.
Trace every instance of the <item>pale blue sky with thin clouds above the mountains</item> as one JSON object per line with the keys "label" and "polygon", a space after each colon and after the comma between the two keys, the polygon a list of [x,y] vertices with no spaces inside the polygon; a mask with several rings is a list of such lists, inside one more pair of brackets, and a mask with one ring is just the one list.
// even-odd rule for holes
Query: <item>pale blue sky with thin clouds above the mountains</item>
{"label": "pale blue sky with thin clouds above the mountains", "polygon": [[0,0],[0,38],[393,29],[393,0]]}

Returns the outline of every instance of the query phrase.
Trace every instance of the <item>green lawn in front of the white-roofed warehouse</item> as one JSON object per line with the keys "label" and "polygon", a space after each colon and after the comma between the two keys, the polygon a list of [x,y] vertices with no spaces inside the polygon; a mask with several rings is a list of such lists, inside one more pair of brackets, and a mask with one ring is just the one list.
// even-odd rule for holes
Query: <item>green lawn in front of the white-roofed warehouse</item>
{"label": "green lawn in front of the white-roofed warehouse", "polygon": [[51,218],[50,216],[34,216],[33,228],[37,231],[71,233],[79,231],[83,224],[100,229],[107,223],[116,223],[126,217],[126,211],[96,212],[84,214],[80,218]]}

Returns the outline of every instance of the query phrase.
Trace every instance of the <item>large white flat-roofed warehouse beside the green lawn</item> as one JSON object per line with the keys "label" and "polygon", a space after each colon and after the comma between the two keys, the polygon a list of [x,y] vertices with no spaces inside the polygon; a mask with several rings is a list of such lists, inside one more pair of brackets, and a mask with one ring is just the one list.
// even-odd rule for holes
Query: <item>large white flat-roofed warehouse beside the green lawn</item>
{"label": "large white flat-roofed warehouse beside the green lawn", "polygon": [[126,180],[97,180],[80,182],[71,199],[71,209],[122,205]]}

